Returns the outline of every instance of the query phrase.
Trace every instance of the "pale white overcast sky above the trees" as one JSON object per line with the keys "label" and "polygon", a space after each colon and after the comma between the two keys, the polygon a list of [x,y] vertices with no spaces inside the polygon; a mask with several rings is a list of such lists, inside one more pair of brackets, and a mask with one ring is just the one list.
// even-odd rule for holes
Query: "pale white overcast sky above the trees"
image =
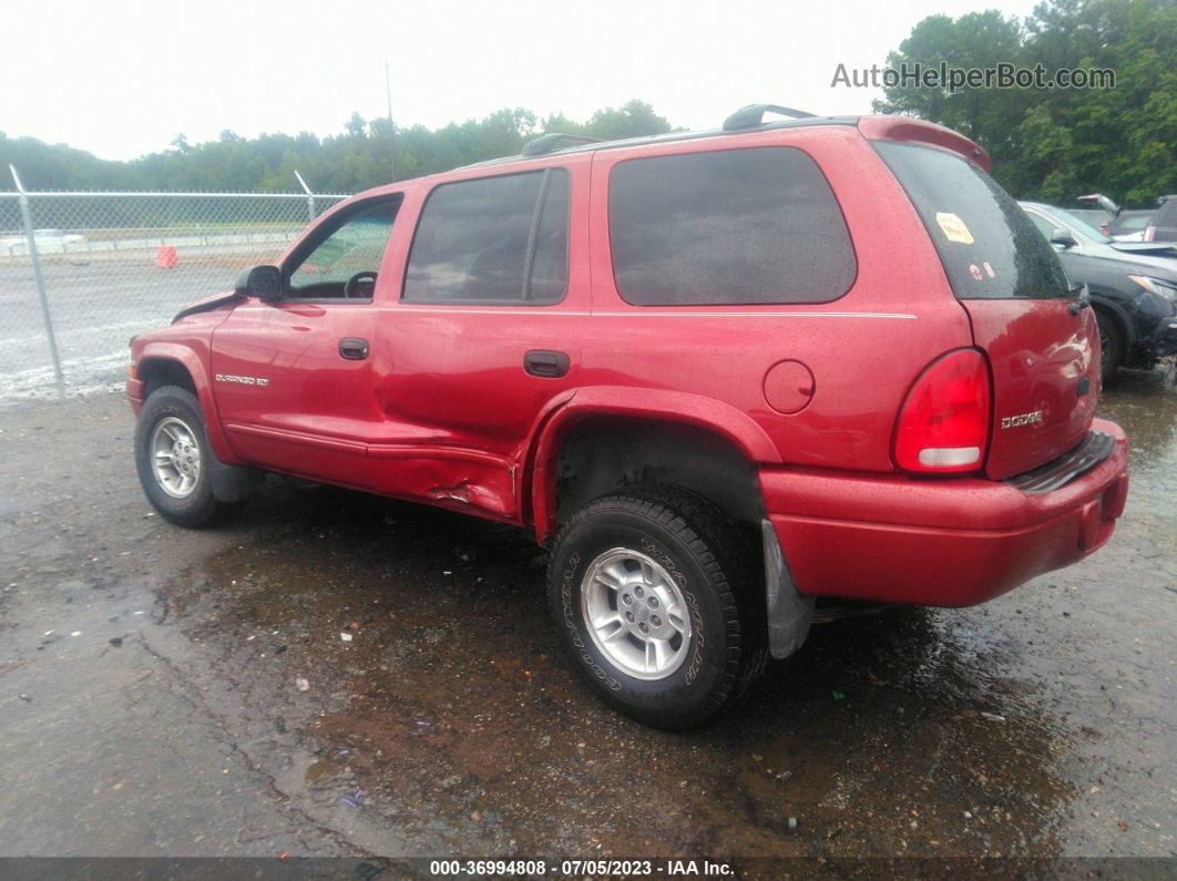
{"label": "pale white overcast sky above the trees", "polygon": [[882,64],[926,15],[1035,2],[42,0],[5,14],[0,131],[107,159],[180,132],[334,134],[352,111],[385,115],[386,55],[400,126],[505,106],[579,120],[631,98],[689,128],[759,101],[863,113],[878,95],[831,88],[839,62]]}

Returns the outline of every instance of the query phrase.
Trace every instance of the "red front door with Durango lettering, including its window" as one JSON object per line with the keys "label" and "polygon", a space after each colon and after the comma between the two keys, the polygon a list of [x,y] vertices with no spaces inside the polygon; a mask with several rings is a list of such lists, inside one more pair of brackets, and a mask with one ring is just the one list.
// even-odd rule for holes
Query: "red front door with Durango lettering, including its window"
{"label": "red front door with Durango lettering, including its window", "polygon": [[399,202],[365,200],[326,218],[281,267],[282,299],[251,299],[214,332],[217,408],[242,460],[371,487],[367,440],[383,419],[372,295]]}

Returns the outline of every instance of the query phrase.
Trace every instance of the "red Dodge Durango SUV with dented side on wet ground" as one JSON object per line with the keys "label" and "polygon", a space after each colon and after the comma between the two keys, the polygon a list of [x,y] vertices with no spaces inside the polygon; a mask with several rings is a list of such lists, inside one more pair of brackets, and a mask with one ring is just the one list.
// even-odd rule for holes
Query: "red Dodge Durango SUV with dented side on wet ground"
{"label": "red Dodge Durango SUV with dented side on wet ground", "polygon": [[1103,545],[1095,315],[984,151],[767,109],[337,206],[133,341],[148,499],[200,526],[264,469],[526,528],[574,665],[670,728],[814,598],[967,606]]}

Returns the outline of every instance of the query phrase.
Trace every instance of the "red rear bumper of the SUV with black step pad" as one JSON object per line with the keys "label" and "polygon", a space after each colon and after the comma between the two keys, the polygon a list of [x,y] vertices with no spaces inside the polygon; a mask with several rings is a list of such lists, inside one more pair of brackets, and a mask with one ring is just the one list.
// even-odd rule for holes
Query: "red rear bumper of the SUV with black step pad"
{"label": "red rear bumper of the SUV with black step pad", "polygon": [[1128,440],[1058,489],[983,480],[760,472],[769,520],[804,594],[972,606],[1068,566],[1111,536],[1128,498]]}

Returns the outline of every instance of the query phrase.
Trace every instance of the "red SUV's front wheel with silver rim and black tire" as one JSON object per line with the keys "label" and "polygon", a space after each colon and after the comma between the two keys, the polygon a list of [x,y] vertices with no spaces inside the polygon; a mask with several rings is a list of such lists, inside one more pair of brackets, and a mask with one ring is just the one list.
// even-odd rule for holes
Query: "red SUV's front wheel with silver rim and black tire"
{"label": "red SUV's front wheel with silver rim and black tire", "polygon": [[[169,456],[166,465],[165,456]],[[135,422],[135,469],[147,500],[160,516],[197,528],[235,510],[237,505],[213,495],[214,463],[197,396],[179,386],[152,392]]]}

